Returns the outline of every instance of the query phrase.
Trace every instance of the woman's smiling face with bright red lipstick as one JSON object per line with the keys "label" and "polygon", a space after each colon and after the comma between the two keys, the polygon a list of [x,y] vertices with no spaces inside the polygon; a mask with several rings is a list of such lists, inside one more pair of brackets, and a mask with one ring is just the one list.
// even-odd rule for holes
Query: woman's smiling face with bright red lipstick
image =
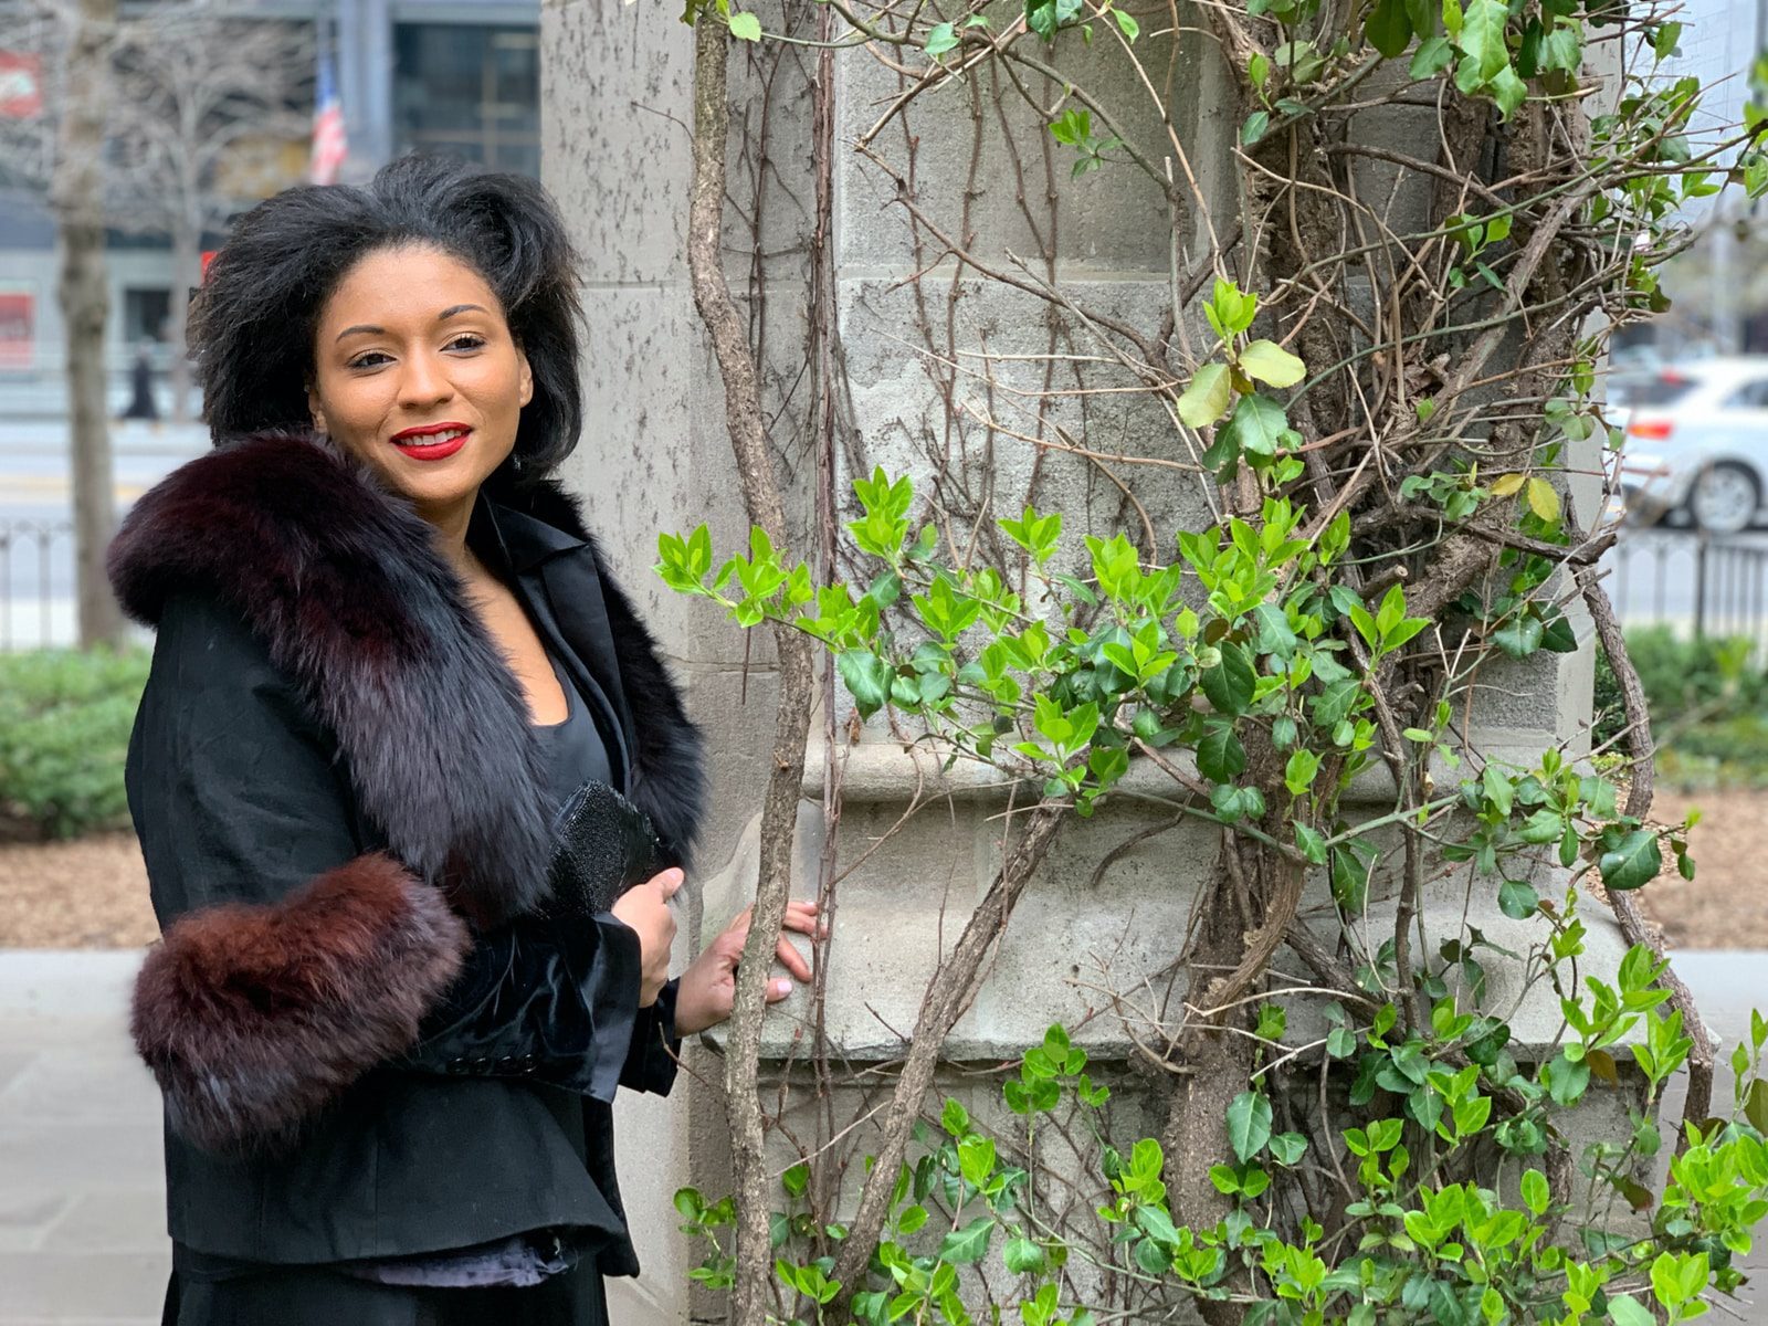
{"label": "woman's smiling face with bright red lipstick", "polygon": [[534,396],[497,295],[431,248],[352,267],[320,309],[313,366],[315,428],[433,523],[465,520]]}

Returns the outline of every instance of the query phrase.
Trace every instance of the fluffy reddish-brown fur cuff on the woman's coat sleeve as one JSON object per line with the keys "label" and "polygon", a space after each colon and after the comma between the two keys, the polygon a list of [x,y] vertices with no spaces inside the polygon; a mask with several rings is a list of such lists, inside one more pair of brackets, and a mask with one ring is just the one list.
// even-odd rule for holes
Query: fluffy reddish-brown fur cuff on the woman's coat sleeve
{"label": "fluffy reddish-brown fur cuff on the woman's coat sleeve", "polygon": [[212,1151],[286,1139],[417,1041],[469,944],[442,893],[380,852],[272,905],[180,918],[147,955],[131,1024],[171,1128]]}

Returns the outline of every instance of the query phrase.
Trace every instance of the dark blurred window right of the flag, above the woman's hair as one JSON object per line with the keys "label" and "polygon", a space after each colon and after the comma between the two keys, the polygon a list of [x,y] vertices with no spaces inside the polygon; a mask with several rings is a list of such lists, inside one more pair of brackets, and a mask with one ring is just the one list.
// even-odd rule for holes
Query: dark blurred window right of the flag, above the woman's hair
{"label": "dark blurred window right of the flag, above the woman's hair", "polygon": [[539,175],[539,34],[467,23],[394,28],[398,150],[449,152]]}

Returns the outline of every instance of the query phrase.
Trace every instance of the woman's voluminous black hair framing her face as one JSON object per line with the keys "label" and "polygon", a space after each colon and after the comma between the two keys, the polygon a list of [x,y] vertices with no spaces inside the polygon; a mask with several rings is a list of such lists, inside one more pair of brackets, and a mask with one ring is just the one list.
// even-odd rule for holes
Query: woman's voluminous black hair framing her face
{"label": "woman's voluminous black hair framing her face", "polygon": [[[371,253],[440,249],[472,267],[504,306],[529,359],[534,400],[502,469],[548,474],[576,447],[576,255],[548,193],[451,157],[408,156],[362,186],[285,189],[253,207],[214,256],[191,306],[189,343],[214,440],[311,426],[308,384],[320,309]],[[513,476],[497,476],[507,483]]]}

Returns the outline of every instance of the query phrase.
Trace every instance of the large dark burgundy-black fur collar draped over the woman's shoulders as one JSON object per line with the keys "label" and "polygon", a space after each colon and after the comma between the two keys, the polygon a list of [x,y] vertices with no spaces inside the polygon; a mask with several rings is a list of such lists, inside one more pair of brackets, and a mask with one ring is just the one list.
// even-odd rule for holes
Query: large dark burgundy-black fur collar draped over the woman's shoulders
{"label": "large dark burgundy-black fur collar draped over the woman's shoulders", "polygon": [[[592,543],[555,484],[499,500]],[[110,575],[149,626],[177,592],[242,612],[336,734],[366,819],[469,914],[543,900],[548,820],[522,690],[430,527],[364,467],[309,437],[226,444],[136,502]],[[698,732],[631,605],[606,576],[601,589],[636,734],[633,799],[679,859],[705,799]]]}

